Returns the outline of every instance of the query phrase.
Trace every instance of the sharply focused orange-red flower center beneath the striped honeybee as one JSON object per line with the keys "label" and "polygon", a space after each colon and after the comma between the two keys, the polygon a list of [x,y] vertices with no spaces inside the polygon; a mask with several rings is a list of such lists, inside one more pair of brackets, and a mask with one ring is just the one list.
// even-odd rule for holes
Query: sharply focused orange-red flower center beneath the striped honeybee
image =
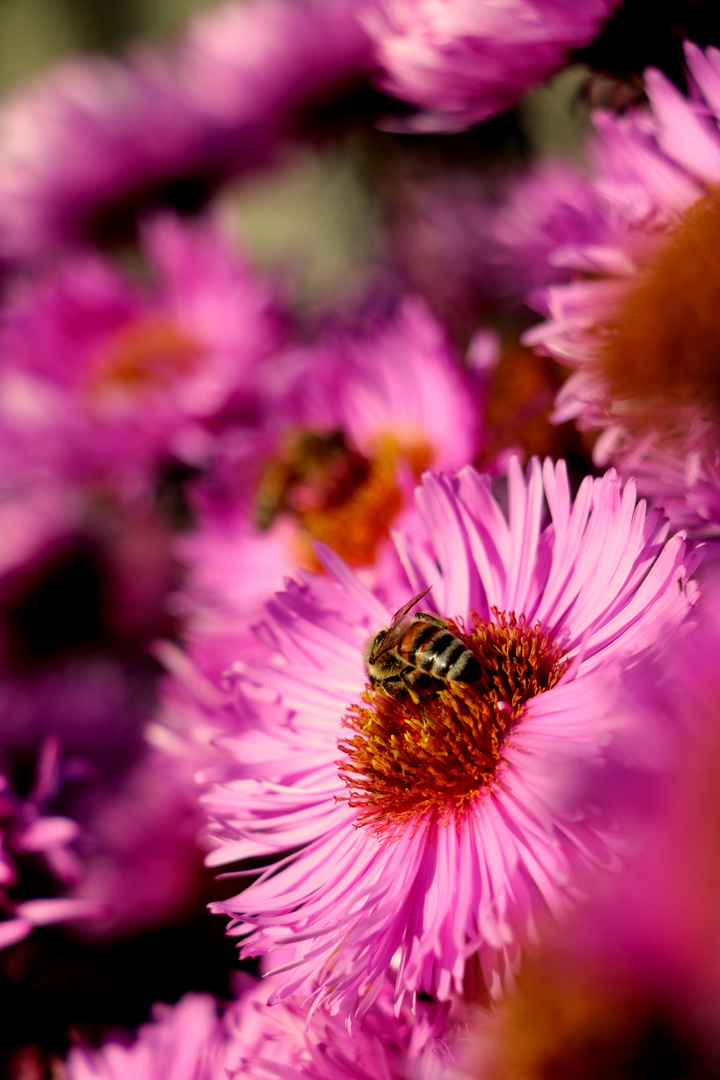
{"label": "sharply focused orange-red flower center beneath the striped honeybee", "polygon": [[338,765],[359,826],[383,834],[426,816],[447,824],[497,783],[527,702],[555,686],[568,662],[539,624],[492,615],[487,623],[473,616],[470,633],[448,623],[479,662],[476,683],[437,680],[396,697],[368,685],[364,704],[350,708]]}

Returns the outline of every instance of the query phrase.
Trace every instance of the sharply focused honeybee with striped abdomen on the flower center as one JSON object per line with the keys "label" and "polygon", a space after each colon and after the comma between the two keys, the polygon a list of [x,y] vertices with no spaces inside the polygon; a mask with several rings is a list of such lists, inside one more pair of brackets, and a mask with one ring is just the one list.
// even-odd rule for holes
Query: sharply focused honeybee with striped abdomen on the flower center
{"label": "sharply focused honeybee with striped abdomen on the flower center", "polygon": [[447,622],[430,611],[410,617],[410,609],[431,589],[408,600],[390,626],[379,630],[365,646],[367,677],[391,698],[406,692],[417,702],[417,690],[439,689],[443,683],[476,683],[480,677],[477,658]]}

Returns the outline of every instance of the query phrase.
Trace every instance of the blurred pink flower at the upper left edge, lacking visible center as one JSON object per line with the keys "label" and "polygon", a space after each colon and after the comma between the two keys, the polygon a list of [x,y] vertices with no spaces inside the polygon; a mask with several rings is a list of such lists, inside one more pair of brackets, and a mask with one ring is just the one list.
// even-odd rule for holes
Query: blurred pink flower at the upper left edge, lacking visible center
{"label": "blurred pink flower at the upper left edge, lacking visible center", "polygon": [[172,58],[149,49],[55,68],[3,104],[0,133],[0,249],[11,261],[124,241],[138,216],[195,211],[268,157],[257,124],[243,131],[239,119],[229,139]]}

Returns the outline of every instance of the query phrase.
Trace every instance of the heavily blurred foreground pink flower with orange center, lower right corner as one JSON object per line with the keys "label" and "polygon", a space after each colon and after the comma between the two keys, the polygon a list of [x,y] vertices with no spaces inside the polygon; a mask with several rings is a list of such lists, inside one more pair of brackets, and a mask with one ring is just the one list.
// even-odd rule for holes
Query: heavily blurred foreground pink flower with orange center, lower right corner
{"label": "heavily blurred foreground pink flower with orange center, lower right corner", "polygon": [[460,1076],[656,1076],[670,1061],[675,1076],[716,1075],[717,588],[716,569],[695,625],[629,673],[619,706],[631,739],[588,792],[622,814],[631,858],[548,936],[516,990],[476,1016]]}

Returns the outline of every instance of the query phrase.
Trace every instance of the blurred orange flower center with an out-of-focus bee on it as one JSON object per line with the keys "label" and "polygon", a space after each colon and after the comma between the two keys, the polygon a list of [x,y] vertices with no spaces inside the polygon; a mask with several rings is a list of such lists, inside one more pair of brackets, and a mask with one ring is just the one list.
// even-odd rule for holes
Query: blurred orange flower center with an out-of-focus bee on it
{"label": "blurred orange flower center with an out-of-focus bee on it", "polygon": [[313,540],[351,566],[367,566],[403,504],[398,465],[419,478],[430,462],[425,444],[402,444],[394,435],[378,438],[365,457],[341,431],[295,433],[264,471],[256,519],[268,528],[279,513],[293,514],[300,526],[296,557],[313,570],[320,569]]}

